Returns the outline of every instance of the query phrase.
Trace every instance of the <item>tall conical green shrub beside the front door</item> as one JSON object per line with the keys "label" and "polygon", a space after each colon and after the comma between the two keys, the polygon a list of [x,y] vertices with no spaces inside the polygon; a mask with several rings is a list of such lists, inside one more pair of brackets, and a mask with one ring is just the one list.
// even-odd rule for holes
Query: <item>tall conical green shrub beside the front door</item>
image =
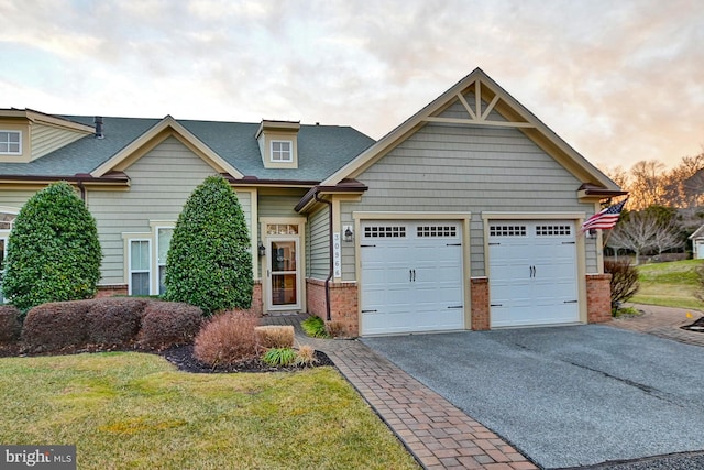
{"label": "tall conical green shrub beside the front door", "polygon": [[240,201],[222,176],[209,176],[178,216],[166,258],[165,297],[204,315],[252,305],[252,253]]}

